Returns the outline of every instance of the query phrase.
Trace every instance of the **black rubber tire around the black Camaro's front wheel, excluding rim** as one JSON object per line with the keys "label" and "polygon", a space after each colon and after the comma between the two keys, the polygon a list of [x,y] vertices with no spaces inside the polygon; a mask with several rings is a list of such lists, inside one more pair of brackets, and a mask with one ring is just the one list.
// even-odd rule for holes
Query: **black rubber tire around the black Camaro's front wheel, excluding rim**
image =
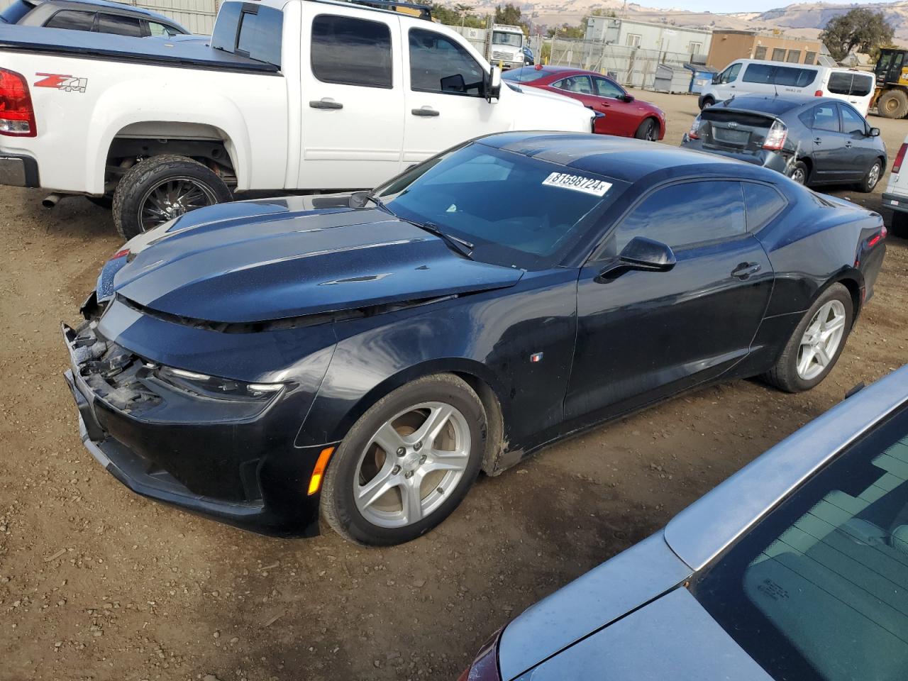
{"label": "black rubber tire around the black Camaro's front wheel, excluding rim", "polygon": [[[427,401],[444,401],[466,417],[470,432],[470,455],[466,471],[449,497],[428,516],[412,525],[384,528],[369,522],[353,498],[360,454],[372,434],[401,410]],[[459,506],[479,474],[486,449],[486,410],[469,384],[448,373],[413,380],[381,398],[353,424],[347,437],[331,456],[321,486],[321,518],[341,537],[371,546],[402,544],[428,532]]]}

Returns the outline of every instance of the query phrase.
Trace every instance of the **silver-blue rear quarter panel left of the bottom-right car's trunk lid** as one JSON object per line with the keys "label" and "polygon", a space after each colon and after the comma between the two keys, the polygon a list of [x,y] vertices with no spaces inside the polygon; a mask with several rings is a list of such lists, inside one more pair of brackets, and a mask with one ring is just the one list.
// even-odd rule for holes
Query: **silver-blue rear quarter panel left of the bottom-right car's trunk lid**
{"label": "silver-blue rear quarter panel left of the bottom-right car's trunk lid", "polygon": [[508,624],[498,643],[501,678],[509,681],[520,676],[665,594],[691,572],[668,548],[662,532],[644,539],[543,598]]}

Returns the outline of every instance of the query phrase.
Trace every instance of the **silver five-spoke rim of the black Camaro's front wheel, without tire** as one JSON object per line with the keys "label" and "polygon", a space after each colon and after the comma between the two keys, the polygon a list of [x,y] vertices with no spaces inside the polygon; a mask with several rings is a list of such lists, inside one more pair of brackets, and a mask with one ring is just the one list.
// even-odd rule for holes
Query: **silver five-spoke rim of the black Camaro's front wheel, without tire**
{"label": "silver five-spoke rim of the black Camaro's front wheel, without tire", "polygon": [[450,496],[469,462],[467,419],[445,402],[423,402],[388,419],[363,449],[356,508],[382,528],[426,518]]}

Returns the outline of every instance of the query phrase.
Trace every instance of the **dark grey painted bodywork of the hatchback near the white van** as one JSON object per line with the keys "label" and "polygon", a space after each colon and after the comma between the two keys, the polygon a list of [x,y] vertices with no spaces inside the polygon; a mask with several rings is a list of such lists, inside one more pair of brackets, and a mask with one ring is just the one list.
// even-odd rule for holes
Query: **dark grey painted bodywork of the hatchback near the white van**
{"label": "dark grey painted bodywork of the hatchback near the white van", "polygon": [[[855,115],[864,120],[864,134],[807,127],[802,117],[818,104],[851,108]],[[682,147],[755,163],[783,174],[787,174],[796,161],[804,161],[809,170],[807,182],[813,185],[858,182],[878,158],[883,162],[880,177],[883,177],[886,169],[887,155],[881,138],[870,134],[870,124],[866,123],[864,116],[858,114],[854,107],[831,97],[744,95],[716,103],[704,111],[727,111],[742,117],[756,114],[777,120],[788,129],[785,145],[780,150],[758,148],[739,151],[726,145],[693,139],[685,133],[681,141]]]}

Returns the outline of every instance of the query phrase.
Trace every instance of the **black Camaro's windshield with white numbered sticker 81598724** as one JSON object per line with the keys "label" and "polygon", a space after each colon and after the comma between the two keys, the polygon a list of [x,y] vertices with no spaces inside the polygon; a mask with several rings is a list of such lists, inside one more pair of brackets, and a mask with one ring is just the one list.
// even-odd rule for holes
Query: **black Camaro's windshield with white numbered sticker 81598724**
{"label": "black Camaro's windshield with white numbered sticker 81598724", "polygon": [[616,181],[469,143],[375,190],[401,218],[475,245],[472,257],[541,270],[591,229]]}

